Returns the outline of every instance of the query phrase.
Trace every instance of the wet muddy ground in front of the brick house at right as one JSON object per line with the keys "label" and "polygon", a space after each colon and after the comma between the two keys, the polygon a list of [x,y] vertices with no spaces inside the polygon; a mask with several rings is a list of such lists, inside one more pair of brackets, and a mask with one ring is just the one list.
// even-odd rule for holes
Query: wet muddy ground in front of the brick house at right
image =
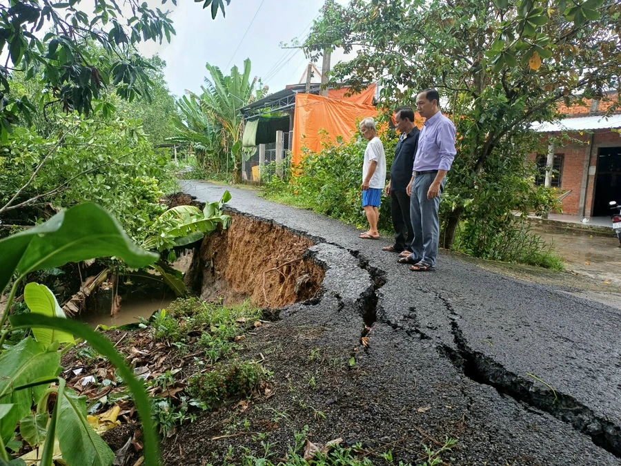
{"label": "wet muddy ground in front of the brick house at right", "polygon": [[621,285],[621,248],[615,237],[534,228],[566,262],[567,268],[602,282]]}

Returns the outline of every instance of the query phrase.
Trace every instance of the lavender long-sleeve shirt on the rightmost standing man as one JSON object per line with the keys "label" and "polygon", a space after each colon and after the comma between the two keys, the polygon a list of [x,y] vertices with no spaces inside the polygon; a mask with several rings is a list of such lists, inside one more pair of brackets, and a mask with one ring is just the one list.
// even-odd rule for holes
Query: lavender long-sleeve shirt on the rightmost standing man
{"label": "lavender long-sleeve shirt on the rightmost standing man", "polygon": [[451,170],[457,154],[455,133],[455,125],[442,112],[426,119],[418,137],[413,171]]}

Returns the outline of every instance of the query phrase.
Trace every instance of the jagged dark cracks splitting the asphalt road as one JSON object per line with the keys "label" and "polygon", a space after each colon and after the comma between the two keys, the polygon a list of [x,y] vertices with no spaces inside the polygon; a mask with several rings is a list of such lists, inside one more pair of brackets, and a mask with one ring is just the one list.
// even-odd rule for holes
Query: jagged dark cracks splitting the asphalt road
{"label": "jagged dark cracks splitting the asphalt road", "polygon": [[[358,295],[357,300],[355,300],[357,304],[356,307],[359,313],[361,313],[364,321],[364,328],[361,331],[361,347],[364,347],[365,351],[368,350],[368,347],[366,344],[363,344],[364,338],[369,335],[369,332],[373,329],[373,325],[376,322],[387,324],[393,329],[405,331],[406,334],[412,338],[433,340],[432,336],[429,336],[421,327],[420,322],[418,322],[416,315],[417,309],[415,306],[409,307],[409,313],[403,315],[404,320],[408,320],[413,324],[407,328],[400,322],[394,322],[393,320],[386,318],[385,313],[380,312],[381,304],[379,290],[384,286],[384,284],[386,284],[386,271],[371,266],[370,261],[364,258],[364,255],[362,255],[359,251],[346,249],[339,244],[326,241],[323,237],[308,235],[308,233],[304,231],[290,229],[290,227],[284,224],[279,224],[274,220],[266,220],[256,217],[255,215],[248,215],[247,213],[239,212],[234,208],[227,210],[234,211],[240,215],[253,217],[257,220],[278,224],[279,226],[288,229],[291,233],[308,237],[317,245],[324,244],[333,246],[343,253],[352,255],[357,260],[359,268],[364,269],[368,273],[368,277],[372,282],[372,286],[366,287],[364,291]],[[308,257],[315,260],[317,259],[316,254],[314,253],[308,254]],[[327,265],[323,260],[318,260],[317,262],[323,262],[324,266]],[[429,290],[420,291],[428,292]],[[493,387],[501,396],[508,396],[516,400],[518,405],[526,411],[531,413],[535,412],[537,414],[541,414],[540,411],[544,411],[551,414],[555,418],[562,420],[564,423],[571,425],[573,429],[581,434],[589,436],[594,445],[607,450],[618,458],[621,458],[620,426],[615,425],[610,420],[602,416],[598,416],[598,414],[595,414],[593,409],[584,405],[572,396],[564,394],[560,391],[555,391],[553,387],[547,385],[544,380],[534,377],[530,380],[519,376],[506,369],[503,365],[493,360],[493,358],[486,356],[480,351],[473,350],[469,346],[466,337],[460,329],[459,320],[462,318],[460,313],[458,313],[453,308],[451,302],[444,298],[444,296],[440,293],[435,291],[431,291],[431,293],[435,295],[437,300],[443,303],[444,308],[448,311],[452,340],[455,344],[453,347],[452,345],[446,343],[435,343],[435,349],[440,356],[448,358],[448,360],[451,361],[453,366],[460,371],[460,373],[463,373],[466,378],[473,380],[473,382]],[[344,307],[344,298],[342,298],[339,293],[333,293],[333,295],[337,298],[339,308],[342,309]],[[322,298],[317,296],[301,304],[315,305],[321,300]],[[355,357],[355,351],[353,351],[351,356]],[[537,382],[539,382],[540,385],[546,386],[546,389],[538,387]],[[469,399],[470,410],[473,405],[473,400],[471,396],[466,393],[464,387],[462,387],[462,394]]]}

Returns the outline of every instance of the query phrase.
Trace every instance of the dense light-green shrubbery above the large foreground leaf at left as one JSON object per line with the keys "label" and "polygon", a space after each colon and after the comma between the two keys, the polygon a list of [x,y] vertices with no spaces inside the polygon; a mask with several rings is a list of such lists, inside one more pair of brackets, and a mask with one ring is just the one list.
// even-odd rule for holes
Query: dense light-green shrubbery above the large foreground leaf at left
{"label": "dense light-green shrubbery above the large foreground leaf at left", "polygon": [[144,240],[155,218],[166,210],[160,197],[177,187],[166,171],[166,158],[153,151],[142,127],[132,120],[99,122],[77,115],[55,119],[60,129],[52,137],[41,137],[34,127],[16,127],[1,148],[0,206],[46,160],[13,207],[29,200],[23,208],[97,202],[117,217],[132,239]]}

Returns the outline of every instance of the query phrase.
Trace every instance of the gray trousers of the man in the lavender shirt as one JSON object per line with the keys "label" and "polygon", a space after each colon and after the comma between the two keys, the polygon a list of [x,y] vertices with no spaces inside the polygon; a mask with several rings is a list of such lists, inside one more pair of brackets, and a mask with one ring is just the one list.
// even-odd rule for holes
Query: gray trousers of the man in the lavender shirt
{"label": "gray trousers of the man in the lavender shirt", "polygon": [[436,173],[425,173],[414,177],[412,195],[410,197],[410,217],[414,230],[411,260],[426,262],[435,266],[437,246],[440,241],[440,219],[437,212],[440,209],[440,198],[444,191],[446,178],[440,185],[440,195],[427,199],[427,191],[433,183]]}

